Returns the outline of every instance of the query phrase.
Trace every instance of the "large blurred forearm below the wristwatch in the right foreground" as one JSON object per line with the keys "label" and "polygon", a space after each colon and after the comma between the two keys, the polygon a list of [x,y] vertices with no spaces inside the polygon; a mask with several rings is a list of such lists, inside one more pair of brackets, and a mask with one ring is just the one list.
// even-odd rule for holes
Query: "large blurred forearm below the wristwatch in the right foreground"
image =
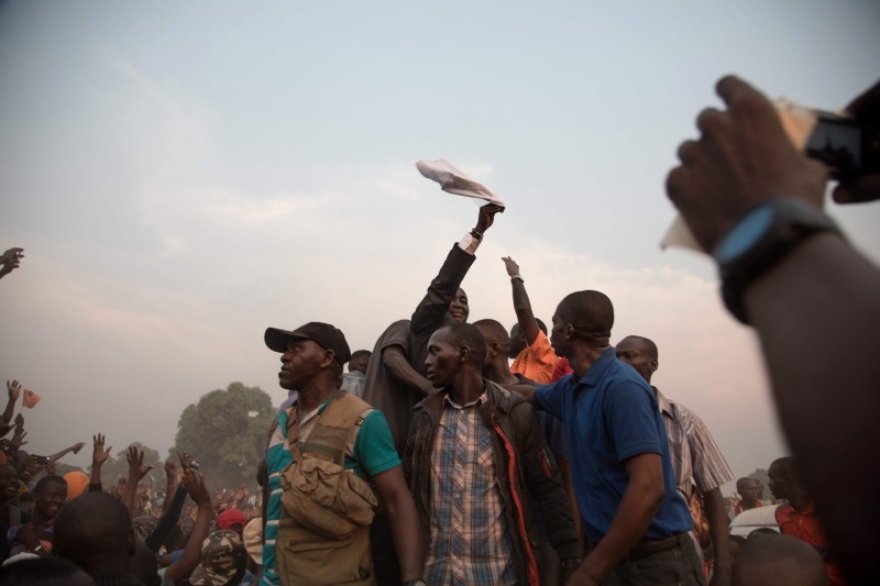
{"label": "large blurred forearm below the wristwatch in the right foreground", "polygon": [[839,555],[860,567],[880,549],[870,521],[880,502],[864,482],[864,471],[880,466],[880,272],[842,239],[820,234],[756,280],[745,300],[816,510]]}

